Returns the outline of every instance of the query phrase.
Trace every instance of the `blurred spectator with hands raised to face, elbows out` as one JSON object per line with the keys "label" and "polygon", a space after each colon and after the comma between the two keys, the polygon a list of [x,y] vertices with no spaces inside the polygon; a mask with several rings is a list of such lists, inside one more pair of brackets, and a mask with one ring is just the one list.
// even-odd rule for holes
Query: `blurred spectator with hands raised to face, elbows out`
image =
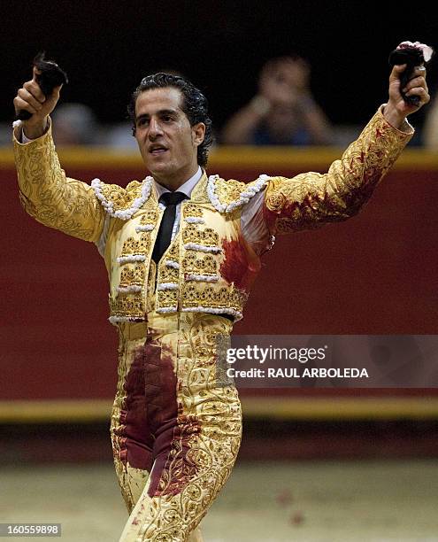
{"label": "blurred spectator with hands raised to face, elbows out", "polygon": [[258,94],[227,121],[222,143],[324,145],[332,143],[330,123],[311,95],[311,68],[299,57],[269,60]]}

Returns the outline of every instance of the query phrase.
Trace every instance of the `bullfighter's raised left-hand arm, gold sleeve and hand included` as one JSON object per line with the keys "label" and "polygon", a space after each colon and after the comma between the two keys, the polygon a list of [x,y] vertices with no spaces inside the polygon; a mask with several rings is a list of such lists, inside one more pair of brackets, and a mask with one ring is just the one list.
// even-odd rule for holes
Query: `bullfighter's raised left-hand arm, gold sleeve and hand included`
{"label": "bullfighter's raised left-hand arm, gold sleeve and hand included", "polygon": [[[104,210],[85,182],[65,176],[51,137],[50,112],[58,103],[61,87],[44,97],[34,78],[14,98],[16,112],[33,113],[14,128],[15,163],[20,201],[35,220],[70,236],[96,242],[104,227]],[[23,134],[25,138],[23,138]],[[25,143],[27,138],[32,140]]]}

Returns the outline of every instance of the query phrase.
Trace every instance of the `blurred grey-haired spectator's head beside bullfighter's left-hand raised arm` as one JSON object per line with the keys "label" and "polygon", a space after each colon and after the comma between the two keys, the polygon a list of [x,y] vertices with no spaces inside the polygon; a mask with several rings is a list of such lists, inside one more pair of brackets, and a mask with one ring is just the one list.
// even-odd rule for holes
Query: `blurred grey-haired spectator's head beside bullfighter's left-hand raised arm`
{"label": "blurred grey-haired spectator's head beside bullfighter's left-hand raised arm", "polygon": [[88,105],[62,104],[53,113],[53,132],[58,146],[100,143],[96,115]]}

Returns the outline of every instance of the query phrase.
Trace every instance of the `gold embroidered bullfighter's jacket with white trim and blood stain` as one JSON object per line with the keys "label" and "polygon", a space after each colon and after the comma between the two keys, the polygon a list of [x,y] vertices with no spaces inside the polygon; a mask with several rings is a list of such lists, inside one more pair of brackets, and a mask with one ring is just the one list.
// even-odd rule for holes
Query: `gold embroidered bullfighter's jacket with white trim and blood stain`
{"label": "gold embroidered bullfighter's jacket with white trim and blood stain", "polygon": [[261,266],[240,228],[250,198],[265,190],[264,217],[272,236],[345,220],[371,196],[412,133],[392,128],[379,110],[326,174],[261,175],[248,184],[204,174],[191,199],[181,203],[179,231],[158,269],[151,255],[163,208],[151,177],[126,189],[70,179],[50,129],[32,143],[14,137],[14,149],[27,213],[96,243],[103,254],[110,321],[142,321],[150,310],[232,314],[238,320]]}

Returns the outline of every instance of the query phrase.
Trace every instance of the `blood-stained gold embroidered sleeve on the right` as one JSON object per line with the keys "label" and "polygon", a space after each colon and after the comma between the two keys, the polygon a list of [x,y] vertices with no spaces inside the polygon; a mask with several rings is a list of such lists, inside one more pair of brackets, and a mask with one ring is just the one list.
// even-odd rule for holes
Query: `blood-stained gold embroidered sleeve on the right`
{"label": "blood-stained gold embroidered sleeve on the right", "polygon": [[326,174],[272,177],[265,190],[271,235],[319,228],[356,214],[394,164],[411,133],[392,128],[379,110]]}

